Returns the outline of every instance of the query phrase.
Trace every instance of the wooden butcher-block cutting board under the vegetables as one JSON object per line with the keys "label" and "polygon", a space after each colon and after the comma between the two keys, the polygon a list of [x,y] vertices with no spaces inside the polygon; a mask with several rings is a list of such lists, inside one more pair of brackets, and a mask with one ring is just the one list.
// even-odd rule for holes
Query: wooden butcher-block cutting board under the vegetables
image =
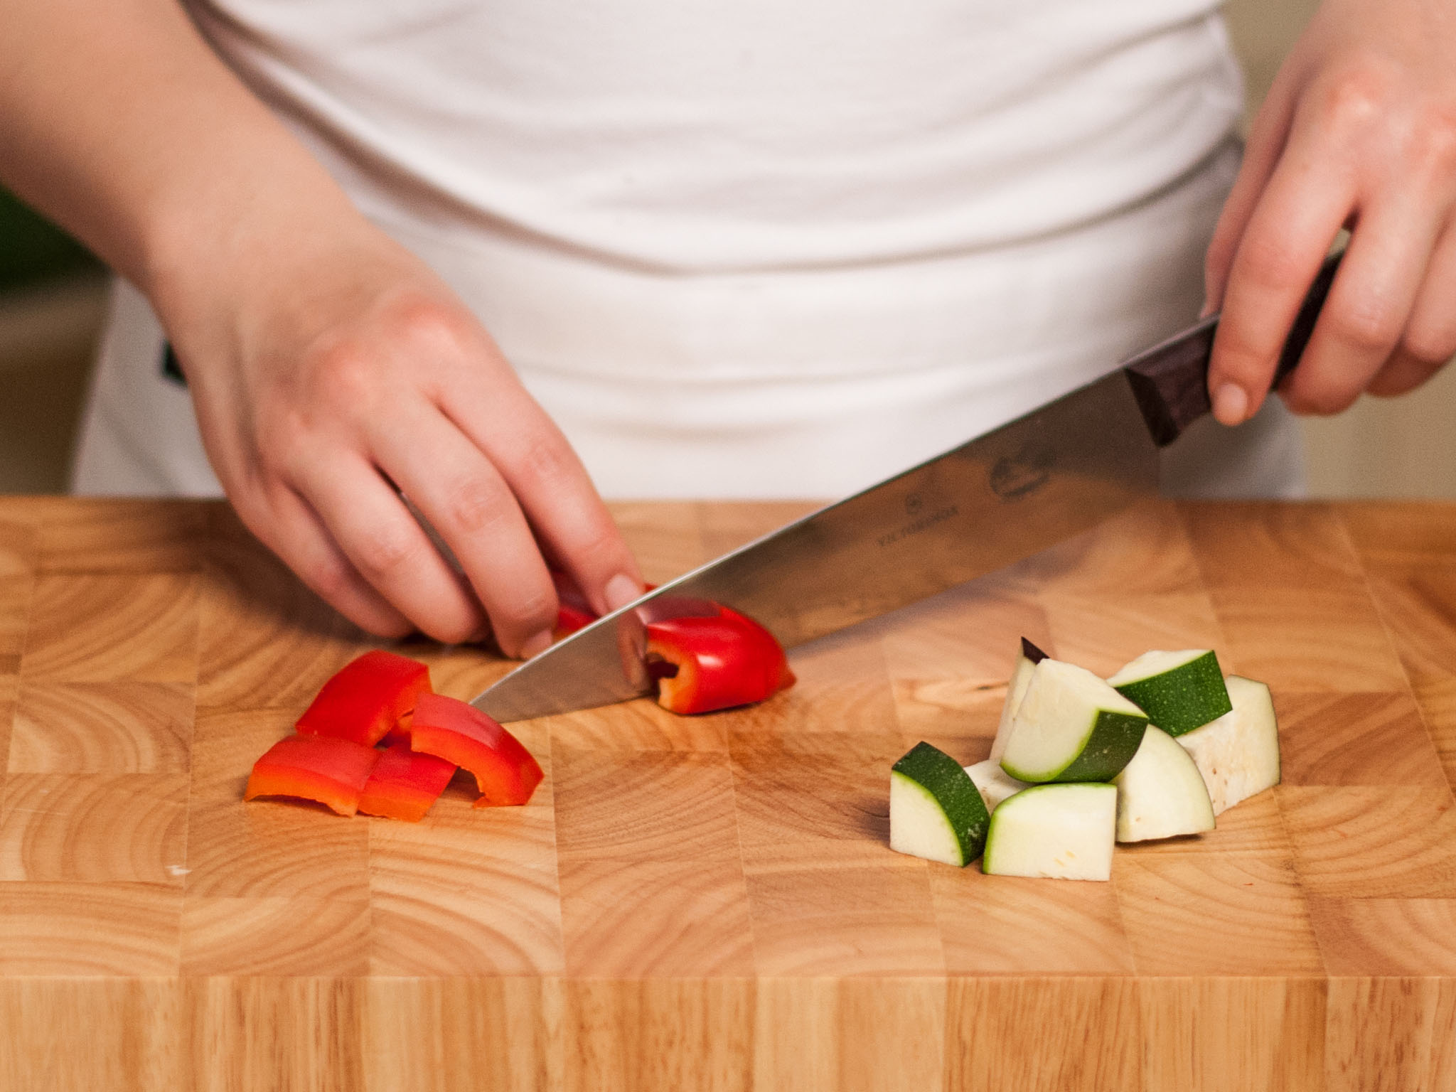
{"label": "wooden butcher-block cutting board under the vegetables", "polygon": [[[798,511],[617,507],[652,579]],[[1021,635],[1217,648],[1284,783],[1111,884],[891,853],[890,764],[983,759]],[[243,804],[367,644],[218,505],[0,501],[0,1088],[1456,1088],[1456,508],[1150,504],[763,706],[521,724],[526,808]]]}

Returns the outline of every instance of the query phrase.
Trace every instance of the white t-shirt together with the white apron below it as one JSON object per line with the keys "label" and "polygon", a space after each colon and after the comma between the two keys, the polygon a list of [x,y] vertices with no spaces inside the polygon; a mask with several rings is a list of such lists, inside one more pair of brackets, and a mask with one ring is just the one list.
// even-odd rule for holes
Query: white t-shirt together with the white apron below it
{"label": "white t-shirt together with the white apron below it", "polygon": [[[1236,166],[1211,0],[191,9],[609,496],[843,495],[1091,380],[1194,316]],[[77,483],[215,491],[115,309]],[[1293,488],[1255,434],[1216,488]]]}

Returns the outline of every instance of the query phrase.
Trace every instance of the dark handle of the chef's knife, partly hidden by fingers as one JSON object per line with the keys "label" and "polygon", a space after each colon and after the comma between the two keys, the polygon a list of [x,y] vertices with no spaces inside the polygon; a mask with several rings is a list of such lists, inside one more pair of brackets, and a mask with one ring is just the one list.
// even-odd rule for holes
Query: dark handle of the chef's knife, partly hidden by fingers
{"label": "dark handle of the chef's knife, partly hidden by fingers", "polygon": [[[1325,306],[1329,285],[1334,284],[1335,271],[1344,256],[1344,250],[1332,253],[1319,266],[1280,352],[1270,390],[1278,387],[1305,355],[1309,336],[1315,332],[1315,322],[1319,320],[1319,309]],[[1159,447],[1168,447],[1188,425],[1213,409],[1208,402],[1208,358],[1213,355],[1213,335],[1217,331],[1219,316],[1213,314],[1187,333],[1143,352],[1124,365],[1133,395]]]}

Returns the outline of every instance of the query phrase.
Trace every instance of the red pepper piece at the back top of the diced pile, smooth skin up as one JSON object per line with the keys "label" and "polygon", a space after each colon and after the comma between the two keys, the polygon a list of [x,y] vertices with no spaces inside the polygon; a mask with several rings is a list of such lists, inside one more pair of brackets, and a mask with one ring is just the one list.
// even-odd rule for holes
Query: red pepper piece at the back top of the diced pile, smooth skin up
{"label": "red pepper piece at the back top of the diced pile, smooth skin up", "polygon": [[298,718],[303,735],[333,735],[373,747],[430,693],[430,668],[376,648],[345,664]]}

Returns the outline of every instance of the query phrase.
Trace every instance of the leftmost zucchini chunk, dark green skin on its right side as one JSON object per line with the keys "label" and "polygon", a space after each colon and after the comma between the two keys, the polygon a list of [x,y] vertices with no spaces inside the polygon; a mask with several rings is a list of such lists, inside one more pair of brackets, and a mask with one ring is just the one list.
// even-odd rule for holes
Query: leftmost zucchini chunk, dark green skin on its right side
{"label": "leftmost zucchini chunk, dark green skin on its right side", "polygon": [[890,849],[964,868],[981,855],[990,812],[965,769],[917,743],[890,770]]}

